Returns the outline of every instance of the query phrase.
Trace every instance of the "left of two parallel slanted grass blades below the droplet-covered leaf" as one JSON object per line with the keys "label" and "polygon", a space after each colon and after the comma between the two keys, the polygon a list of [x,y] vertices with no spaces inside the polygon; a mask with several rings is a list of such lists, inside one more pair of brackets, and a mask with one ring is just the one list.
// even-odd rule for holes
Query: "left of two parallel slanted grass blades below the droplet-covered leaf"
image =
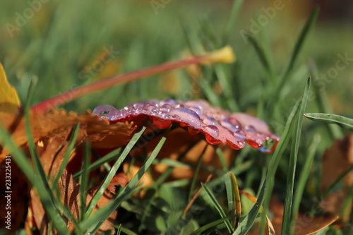
{"label": "left of two parallel slanted grass blades below the droplet-covered leaf", "polygon": [[97,192],[95,195],[93,195],[92,199],[90,200],[90,203],[88,204],[87,211],[85,212],[85,217],[89,217],[90,213],[92,213],[92,210],[95,208],[95,206],[98,203],[98,200],[100,200],[100,197],[102,197],[104,191],[107,189],[107,186],[109,185],[110,181],[112,181],[114,175],[116,174],[116,171],[119,169],[121,164],[124,162],[124,159],[128,155],[128,152],[131,151],[133,146],[136,144],[140,136],[143,134],[143,131],[145,131],[146,126],[143,126],[143,128],[140,129],[140,131],[136,132],[133,137],[131,138],[130,142],[128,145],[126,145],[124,151],[121,153],[119,159],[116,160],[114,165],[112,166],[112,169],[110,169],[109,173],[107,176],[105,176],[104,181],[101,183],[100,187],[97,189]]}

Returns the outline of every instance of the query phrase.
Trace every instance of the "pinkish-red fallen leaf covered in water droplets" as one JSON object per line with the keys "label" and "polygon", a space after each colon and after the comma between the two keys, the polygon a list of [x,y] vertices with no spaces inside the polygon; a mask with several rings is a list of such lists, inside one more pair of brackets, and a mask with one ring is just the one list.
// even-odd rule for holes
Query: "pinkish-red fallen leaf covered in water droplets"
{"label": "pinkish-red fallen leaf covered in water droplets", "polygon": [[[236,150],[244,147],[247,142],[261,152],[272,152],[280,140],[279,136],[271,133],[268,126],[260,119],[248,114],[230,114],[212,107],[204,100],[187,102],[172,99],[149,100],[127,104],[123,109],[100,105],[93,110],[93,114],[109,121],[127,121],[133,116],[145,114],[157,128],[167,128],[172,122],[178,122],[191,134],[197,134],[200,131],[205,133],[205,138],[210,144],[227,143]],[[249,125],[244,121],[246,123],[244,126],[244,123],[237,119],[237,115],[241,115],[241,119],[249,116],[249,120],[253,123]]]}

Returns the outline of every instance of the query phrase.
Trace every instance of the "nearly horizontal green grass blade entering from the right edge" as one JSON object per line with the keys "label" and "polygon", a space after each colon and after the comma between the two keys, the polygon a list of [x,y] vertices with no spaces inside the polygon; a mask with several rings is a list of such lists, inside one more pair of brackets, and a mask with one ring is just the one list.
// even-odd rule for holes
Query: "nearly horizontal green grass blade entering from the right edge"
{"label": "nearly horizontal green grass blade entering from the right edge", "polygon": [[304,114],[308,119],[313,121],[321,121],[325,123],[334,123],[338,126],[342,126],[349,131],[353,131],[353,119],[349,119],[345,116],[335,114],[320,114],[320,113],[309,113]]}

